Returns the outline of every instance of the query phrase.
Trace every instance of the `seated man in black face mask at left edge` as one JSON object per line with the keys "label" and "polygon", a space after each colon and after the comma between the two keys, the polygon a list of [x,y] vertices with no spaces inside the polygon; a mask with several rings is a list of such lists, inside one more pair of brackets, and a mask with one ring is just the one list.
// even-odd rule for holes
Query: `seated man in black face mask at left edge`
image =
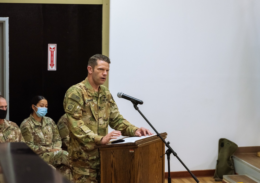
{"label": "seated man in black face mask at left edge", "polygon": [[0,143],[24,142],[20,128],[16,123],[5,120],[7,114],[7,102],[0,95]]}

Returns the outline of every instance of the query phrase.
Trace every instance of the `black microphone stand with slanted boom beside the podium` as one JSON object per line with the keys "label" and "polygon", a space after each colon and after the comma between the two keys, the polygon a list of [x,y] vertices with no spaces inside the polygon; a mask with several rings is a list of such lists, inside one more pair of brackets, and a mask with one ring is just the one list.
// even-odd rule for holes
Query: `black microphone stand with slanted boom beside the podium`
{"label": "black microphone stand with slanted boom beside the podium", "polygon": [[[170,174],[170,155],[171,153],[181,162],[181,164],[186,168],[186,170],[191,174],[192,178],[199,183],[199,180],[195,177],[195,175],[193,175],[193,173],[191,173],[191,171],[186,167],[186,165],[181,161],[181,159],[177,156],[177,153],[173,151],[173,149],[171,148],[171,146],[169,145],[170,142],[167,142],[162,138],[162,136],[157,132],[157,130],[152,126],[152,124],[146,119],[146,117],[141,113],[141,111],[139,110],[139,108],[137,107],[138,103],[136,103],[135,100],[131,100],[131,102],[134,105],[135,110],[137,110],[141,116],[145,119],[145,121],[152,127],[152,129],[155,131],[155,133],[157,134],[157,136],[160,137],[160,139],[165,143],[165,146],[168,148],[165,152],[165,154],[167,155],[167,161],[168,161],[168,183],[171,183],[171,174]],[[163,154],[162,156],[160,156],[161,158],[165,155]]]}

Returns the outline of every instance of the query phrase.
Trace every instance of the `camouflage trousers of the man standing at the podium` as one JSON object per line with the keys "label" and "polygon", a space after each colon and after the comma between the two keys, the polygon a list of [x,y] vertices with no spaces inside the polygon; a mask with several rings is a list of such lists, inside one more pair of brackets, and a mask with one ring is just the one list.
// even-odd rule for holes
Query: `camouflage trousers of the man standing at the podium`
{"label": "camouflage trousers of the man standing at the podium", "polygon": [[100,169],[89,168],[89,175],[82,175],[72,171],[75,183],[100,183]]}

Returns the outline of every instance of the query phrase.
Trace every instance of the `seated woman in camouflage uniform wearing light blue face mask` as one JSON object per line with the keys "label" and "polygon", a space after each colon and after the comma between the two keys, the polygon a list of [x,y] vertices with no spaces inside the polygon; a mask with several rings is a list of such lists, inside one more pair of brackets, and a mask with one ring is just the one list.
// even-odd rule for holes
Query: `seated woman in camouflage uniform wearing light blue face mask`
{"label": "seated woman in camouflage uniform wearing light blue face mask", "polygon": [[61,137],[55,122],[46,117],[48,102],[43,96],[32,100],[30,117],[20,126],[25,143],[45,162],[53,165],[64,177],[74,182],[68,164],[68,152],[61,149]]}

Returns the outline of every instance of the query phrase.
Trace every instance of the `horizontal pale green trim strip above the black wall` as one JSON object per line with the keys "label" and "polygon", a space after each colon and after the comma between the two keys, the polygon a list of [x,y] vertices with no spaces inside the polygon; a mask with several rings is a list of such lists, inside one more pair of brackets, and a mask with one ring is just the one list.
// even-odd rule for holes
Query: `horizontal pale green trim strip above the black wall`
{"label": "horizontal pale green trim strip above the black wall", "polygon": [[0,0],[0,3],[103,4],[103,0]]}

